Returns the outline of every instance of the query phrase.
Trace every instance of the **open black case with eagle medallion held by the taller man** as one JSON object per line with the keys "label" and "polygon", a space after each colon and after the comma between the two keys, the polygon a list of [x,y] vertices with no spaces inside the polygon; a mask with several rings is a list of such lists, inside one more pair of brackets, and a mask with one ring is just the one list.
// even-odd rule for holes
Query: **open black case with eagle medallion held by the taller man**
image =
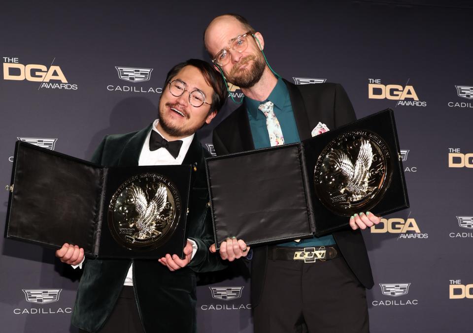
{"label": "open black case with eagle medallion held by the taller man", "polygon": [[208,158],[206,168],[217,246],[324,236],[354,213],[409,207],[390,109],[298,144]]}

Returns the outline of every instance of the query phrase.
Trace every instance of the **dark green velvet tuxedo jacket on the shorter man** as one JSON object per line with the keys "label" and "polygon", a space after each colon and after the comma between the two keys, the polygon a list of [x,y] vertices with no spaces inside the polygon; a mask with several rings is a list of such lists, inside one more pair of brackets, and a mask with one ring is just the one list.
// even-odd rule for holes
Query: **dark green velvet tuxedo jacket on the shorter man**
{"label": "dark green velvet tuxedo jacket on the shorter man", "polygon": [[[151,125],[138,132],[106,136],[95,151],[92,162],[105,166],[136,166]],[[133,262],[133,285],[138,312],[146,332],[172,332],[174,320],[187,321],[186,332],[196,332],[196,276],[195,272],[225,268],[217,255],[208,248],[213,244],[211,217],[207,207],[208,190],[204,158],[208,157],[196,136],[182,164],[197,167],[193,172],[187,218],[188,238],[198,245],[190,264],[170,272],[158,260],[145,259],[89,259],[84,262],[77,298],[72,314],[72,325],[89,332],[101,329],[120,295],[130,265]],[[172,254],[172,253],[171,253]],[[172,289],[184,292],[176,295],[188,307],[187,313],[175,313],[160,302],[162,293]],[[169,313],[171,313],[169,315]],[[174,313],[174,315],[172,315]]]}

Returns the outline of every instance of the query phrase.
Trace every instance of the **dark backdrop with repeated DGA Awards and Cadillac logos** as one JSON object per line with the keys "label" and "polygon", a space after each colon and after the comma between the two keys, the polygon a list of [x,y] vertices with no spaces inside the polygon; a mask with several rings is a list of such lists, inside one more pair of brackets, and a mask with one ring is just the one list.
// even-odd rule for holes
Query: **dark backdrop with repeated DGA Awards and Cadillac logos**
{"label": "dark backdrop with repeated DGA Awards and Cadillac logos", "polygon": [[[1,184],[10,183],[17,140],[89,159],[104,135],[147,126],[168,70],[208,60],[203,30],[227,12],[263,34],[268,61],[287,80],[341,83],[358,118],[395,111],[411,206],[364,231],[371,331],[471,332],[470,1],[3,3]],[[238,87],[229,94],[242,98]],[[213,127],[236,106],[229,99],[199,131],[211,153]],[[3,226],[7,191],[0,200]],[[50,249],[3,238],[0,249],[0,331],[76,332],[81,272]],[[241,263],[202,275],[199,331],[253,332],[249,284]]]}

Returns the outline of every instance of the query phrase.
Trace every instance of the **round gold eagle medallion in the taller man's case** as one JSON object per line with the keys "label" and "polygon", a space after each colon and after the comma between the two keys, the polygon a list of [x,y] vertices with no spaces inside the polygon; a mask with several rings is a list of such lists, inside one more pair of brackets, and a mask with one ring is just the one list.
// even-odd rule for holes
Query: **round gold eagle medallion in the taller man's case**
{"label": "round gold eagle medallion in the taller man's case", "polygon": [[339,215],[368,212],[382,199],[393,170],[384,140],[370,131],[343,133],[325,146],[314,170],[315,195]]}

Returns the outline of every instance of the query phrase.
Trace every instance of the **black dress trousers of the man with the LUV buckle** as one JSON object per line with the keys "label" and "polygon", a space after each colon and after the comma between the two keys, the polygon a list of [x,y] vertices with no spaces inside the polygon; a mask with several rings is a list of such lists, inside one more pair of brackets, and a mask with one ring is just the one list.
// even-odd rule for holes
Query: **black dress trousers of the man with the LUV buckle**
{"label": "black dress trousers of the man with the LUV buckle", "polygon": [[365,287],[342,257],[268,259],[255,333],[369,333]]}

